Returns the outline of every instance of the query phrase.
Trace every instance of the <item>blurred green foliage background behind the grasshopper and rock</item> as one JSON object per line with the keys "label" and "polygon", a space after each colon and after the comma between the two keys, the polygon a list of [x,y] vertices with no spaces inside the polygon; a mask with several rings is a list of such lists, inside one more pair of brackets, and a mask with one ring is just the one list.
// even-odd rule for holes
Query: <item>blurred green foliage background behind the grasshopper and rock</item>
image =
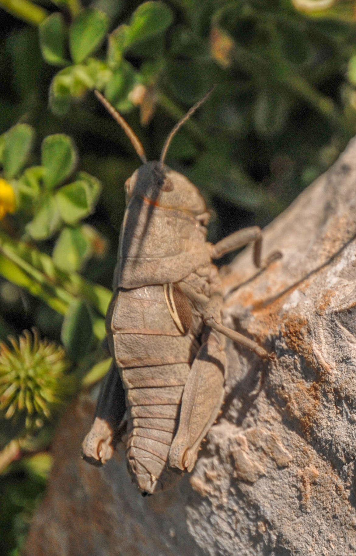
{"label": "blurred green foliage background behind the grasshopper and rock", "polygon": [[[93,89],[155,160],[216,83],[166,158],[206,198],[215,242],[268,224],[355,134],[355,16],[350,0],[0,0],[1,554],[26,537],[60,410],[108,368],[123,183],[140,161]],[[33,326],[52,343],[11,347]]]}

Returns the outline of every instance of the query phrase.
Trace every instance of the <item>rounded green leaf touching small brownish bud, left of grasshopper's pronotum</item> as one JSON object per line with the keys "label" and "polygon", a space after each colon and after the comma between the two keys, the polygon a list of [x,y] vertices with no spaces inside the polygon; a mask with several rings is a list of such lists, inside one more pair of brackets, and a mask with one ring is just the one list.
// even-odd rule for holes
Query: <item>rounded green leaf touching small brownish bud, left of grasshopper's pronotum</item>
{"label": "rounded green leaf touching small brownish bud, left of grasshopper's pronotum", "polygon": [[83,266],[91,253],[91,243],[82,228],[65,227],[55,243],[53,262],[60,270],[74,272]]}

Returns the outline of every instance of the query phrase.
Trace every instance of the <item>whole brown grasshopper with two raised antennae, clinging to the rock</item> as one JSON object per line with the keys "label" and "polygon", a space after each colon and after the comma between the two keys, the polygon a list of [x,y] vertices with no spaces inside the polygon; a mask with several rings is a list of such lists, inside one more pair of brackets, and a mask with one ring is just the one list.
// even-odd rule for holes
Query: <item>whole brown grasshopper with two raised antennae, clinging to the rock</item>
{"label": "whole brown grasshopper with two raised antennae, clinging to the rock", "polygon": [[124,128],[143,165],[125,182],[126,211],[106,315],[113,363],[83,456],[96,464],[111,458],[126,411],[129,471],[141,491],[152,494],[162,488],[168,466],[194,467],[223,401],[225,337],[270,357],[256,342],[223,326],[222,286],[212,260],[253,242],[253,261],[261,269],[279,253],[261,261],[258,226],[208,243],[210,215],[203,198],[185,176],[164,164],[172,137],[210,91],[172,129],[159,162],[147,162],[138,137],[95,94]]}

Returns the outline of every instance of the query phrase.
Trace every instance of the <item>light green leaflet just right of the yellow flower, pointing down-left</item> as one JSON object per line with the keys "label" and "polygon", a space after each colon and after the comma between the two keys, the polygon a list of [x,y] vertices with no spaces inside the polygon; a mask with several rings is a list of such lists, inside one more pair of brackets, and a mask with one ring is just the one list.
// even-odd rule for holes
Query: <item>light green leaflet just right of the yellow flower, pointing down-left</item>
{"label": "light green leaflet just right of the yellow flower, pointing down-left", "polygon": [[44,240],[58,230],[60,215],[54,197],[45,195],[34,219],[26,226],[26,231],[34,240]]}

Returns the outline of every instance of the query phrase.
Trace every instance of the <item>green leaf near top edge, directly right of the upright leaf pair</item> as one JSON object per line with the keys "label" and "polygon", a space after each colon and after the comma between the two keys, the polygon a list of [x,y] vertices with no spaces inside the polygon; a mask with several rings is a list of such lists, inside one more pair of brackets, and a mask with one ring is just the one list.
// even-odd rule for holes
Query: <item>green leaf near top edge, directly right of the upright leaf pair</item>
{"label": "green leaf near top edge, directly right of the upright leaf pair", "polygon": [[165,31],[173,21],[171,9],[162,2],[144,2],[133,13],[126,47]]}

